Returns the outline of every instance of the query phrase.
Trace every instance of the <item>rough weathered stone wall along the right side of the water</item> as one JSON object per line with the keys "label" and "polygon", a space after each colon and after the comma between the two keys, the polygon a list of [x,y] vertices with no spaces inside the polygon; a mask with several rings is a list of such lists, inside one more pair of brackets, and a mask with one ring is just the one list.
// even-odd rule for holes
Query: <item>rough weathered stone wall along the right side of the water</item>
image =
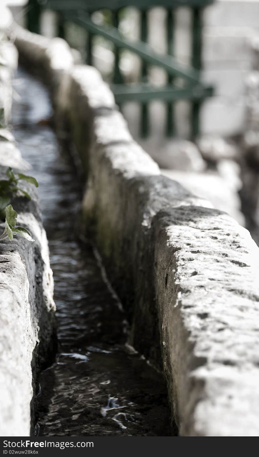
{"label": "rough weathered stone wall along the right side of the water", "polygon": [[[124,278],[119,292],[132,314],[132,342],[156,361],[160,338],[181,435],[259,436],[257,246],[228,215],[160,175],[95,69],[70,70],[57,111],[59,119],[68,115],[89,174],[83,209],[108,274],[118,287]],[[211,235],[217,229],[220,236]],[[195,263],[208,273],[220,265],[213,286]]]}

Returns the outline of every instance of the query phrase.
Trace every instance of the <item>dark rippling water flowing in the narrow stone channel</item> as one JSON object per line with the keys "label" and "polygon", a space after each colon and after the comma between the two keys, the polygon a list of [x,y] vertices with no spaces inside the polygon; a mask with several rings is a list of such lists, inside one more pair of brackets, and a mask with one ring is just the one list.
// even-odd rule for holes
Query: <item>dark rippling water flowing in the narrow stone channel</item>
{"label": "dark rippling water flowing in the narrow stone channel", "polygon": [[91,243],[76,239],[81,182],[46,121],[48,93],[23,70],[14,85],[13,132],[39,182],[57,305],[58,349],[40,376],[35,434],[168,436],[164,379],[125,345],[119,300]]}

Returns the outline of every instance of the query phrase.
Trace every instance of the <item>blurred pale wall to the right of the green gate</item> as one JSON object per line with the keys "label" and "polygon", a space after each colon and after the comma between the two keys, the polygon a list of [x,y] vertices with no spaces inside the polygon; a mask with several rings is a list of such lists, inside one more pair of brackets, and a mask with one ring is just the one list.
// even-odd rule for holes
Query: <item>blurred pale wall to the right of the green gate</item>
{"label": "blurred pale wall to the right of the green gate", "polygon": [[204,132],[243,132],[245,79],[252,65],[249,43],[259,34],[258,0],[220,0],[204,13],[204,79],[216,97],[202,110]]}

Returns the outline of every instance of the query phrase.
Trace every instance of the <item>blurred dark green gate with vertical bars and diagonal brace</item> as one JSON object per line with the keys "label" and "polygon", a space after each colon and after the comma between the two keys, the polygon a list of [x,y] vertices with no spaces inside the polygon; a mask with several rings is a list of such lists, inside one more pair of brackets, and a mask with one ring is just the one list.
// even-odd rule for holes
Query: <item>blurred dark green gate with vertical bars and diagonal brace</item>
{"label": "blurred dark green gate with vertical bars and diagonal brace", "polygon": [[[43,8],[56,11],[58,15],[59,37],[65,38],[65,22],[72,22],[87,31],[87,64],[92,65],[92,42],[95,35],[108,39],[114,45],[114,73],[112,90],[116,102],[136,100],[141,103],[141,133],[149,134],[148,104],[152,100],[163,100],[167,104],[166,134],[175,133],[175,106],[178,100],[191,102],[191,136],[195,138],[200,131],[200,107],[206,97],[213,95],[213,88],[201,82],[202,67],[202,12],[213,0],[29,0],[27,26],[32,32],[39,33],[40,14]],[[141,40],[128,41],[119,33],[119,12],[127,6],[135,6],[141,15]],[[167,54],[156,53],[147,44],[147,12],[154,6],[162,6],[167,12]],[[180,65],[174,53],[175,11],[179,6],[188,6],[192,13],[191,66]],[[98,25],[92,20],[92,13],[109,9],[113,13],[113,25]],[[141,58],[141,81],[138,84],[125,84],[119,68],[120,50],[128,49]],[[167,85],[155,87],[147,82],[149,65],[164,69],[167,73]],[[175,84],[176,78],[184,81],[183,87]]]}

